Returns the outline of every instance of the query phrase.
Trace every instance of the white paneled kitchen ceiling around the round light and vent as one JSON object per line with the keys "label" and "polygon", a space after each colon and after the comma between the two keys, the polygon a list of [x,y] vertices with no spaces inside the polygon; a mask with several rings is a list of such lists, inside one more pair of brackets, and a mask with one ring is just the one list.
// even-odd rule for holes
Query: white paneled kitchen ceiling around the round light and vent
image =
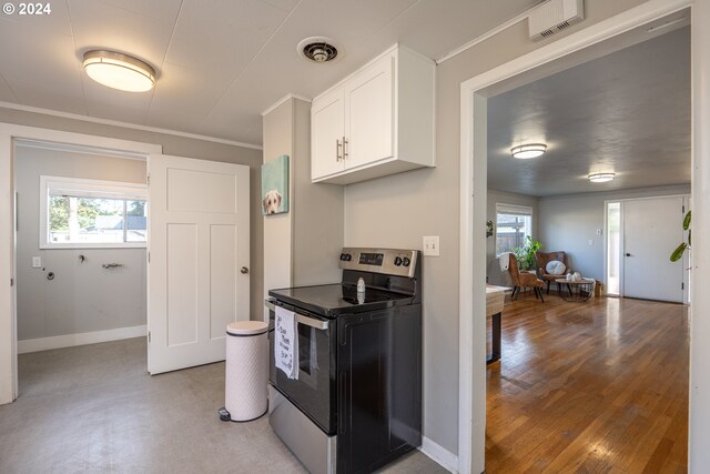
{"label": "white paneled kitchen ceiling around the round light and vent", "polygon": [[[261,112],[313,98],[395,42],[433,59],[540,0],[65,0],[51,14],[0,16],[0,102],[262,143]],[[209,6],[209,7],[207,7]],[[325,36],[334,63],[296,44]],[[146,93],[91,81],[83,52],[130,53],[158,71]]]}

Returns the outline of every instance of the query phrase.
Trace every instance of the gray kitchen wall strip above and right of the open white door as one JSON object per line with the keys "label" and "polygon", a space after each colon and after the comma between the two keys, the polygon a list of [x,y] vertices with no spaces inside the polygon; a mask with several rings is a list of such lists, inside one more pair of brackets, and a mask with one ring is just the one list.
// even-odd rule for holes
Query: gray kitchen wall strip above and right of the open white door
{"label": "gray kitchen wall strip above and right of the open white door", "polygon": [[251,319],[262,319],[264,301],[263,288],[263,223],[261,216],[261,164],[262,151],[232,144],[216,143],[168,133],[136,130],[101,123],[84,122],[42,113],[26,112],[0,107],[0,122],[37,127],[50,130],[110,137],[122,140],[156,143],[163,147],[164,154],[196,158],[201,160],[224,161],[250,167],[251,186]]}

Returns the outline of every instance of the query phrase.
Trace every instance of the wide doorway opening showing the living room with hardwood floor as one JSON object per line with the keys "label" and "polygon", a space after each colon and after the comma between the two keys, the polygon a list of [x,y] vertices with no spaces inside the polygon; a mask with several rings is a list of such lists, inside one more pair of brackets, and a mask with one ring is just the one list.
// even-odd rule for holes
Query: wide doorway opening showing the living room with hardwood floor
{"label": "wide doorway opening showing the living room with hardwood floor", "polygon": [[[679,402],[679,410],[671,416],[681,424],[687,418],[687,311],[660,301],[683,301],[682,265],[671,263],[668,256],[682,239],[684,198],[672,193],[689,190],[691,179],[689,30],[686,26],[655,38],[641,36],[626,48],[487,98],[487,196],[493,201],[487,208],[500,210],[504,204],[516,204],[530,210],[535,230],[530,241],[532,246],[540,242],[544,254],[537,256],[535,250],[521,249],[520,242],[515,253],[520,272],[536,273],[537,279],[526,279],[526,285],[545,288],[551,283],[544,302],[535,292],[514,292],[507,302],[508,317],[504,309],[503,354],[487,369],[488,471],[527,470],[529,461],[521,455],[525,448],[515,443],[527,443],[528,437],[531,443],[545,440],[542,444],[554,446],[535,450],[540,467],[565,471],[572,467],[567,463],[574,457],[575,468],[594,470],[594,455],[576,446],[577,436],[584,432],[584,436],[604,443],[615,442],[607,433],[621,427],[616,424],[618,414],[608,416],[608,407],[613,406],[619,391],[627,384],[651,390],[638,373],[648,371],[648,376],[662,371],[660,361],[647,364],[639,355],[643,350],[632,352],[630,346],[630,341],[642,336],[641,331],[631,330],[645,321],[642,314],[648,327],[663,334],[651,345],[668,344],[677,354],[680,376],[674,380],[679,390],[673,396],[684,399],[684,403]],[[672,74],[667,73],[669,69]],[[666,107],[662,120],[649,110],[656,107],[652,99],[659,93],[672,95],[672,105]],[[645,149],[652,140],[657,144]],[[510,157],[510,149],[518,143],[547,143],[547,152],[537,159],[517,160]],[[604,185],[588,179],[601,171],[616,173],[616,179]],[[597,296],[601,284],[595,282],[605,276],[604,209],[610,196],[622,202],[622,294],[656,303],[632,304]],[[497,223],[498,235],[510,224],[496,215],[499,213],[487,219]],[[547,263],[546,259],[554,262]],[[487,269],[497,266],[486,262]],[[548,280],[559,271],[557,266],[564,266],[562,272]],[[588,283],[565,283],[565,273]],[[503,284],[519,284],[514,281]],[[570,304],[579,307],[570,310]],[[669,321],[673,324],[667,325]],[[589,351],[598,346],[607,350]],[[652,350],[643,355],[650,353]],[[621,354],[626,354],[625,367],[636,371],[617,366]],[[561,375],[564,387],[560,373],[566,374]],[[595,415],[569,422],[571,400],[594,406]],[[526,422],[519,430],[511,427],[523,413],[527,413]],[[657,421],[666,415],[659,406],[649,405],[643,420]],[[629,417],[635,424],[641,423]],[[557,420],[557,424],[546,428],[542,418]],[[537,430],[535,436],[529,434],[530,426]],[[558,428],[569,435],[555,443]],[[508,436],[517,441],[511,443]],[[656,462],[686,466],[683,428],[668,436],[680,446],[680,454]],[[646,463],[649,458],[636,455],[636,450],[652,452],[657,442],[629,441],[628,448],[616,447],[618,458],[605,466],[627,470],[632,462]],[[513,450],[519,453],[510,453]]]}

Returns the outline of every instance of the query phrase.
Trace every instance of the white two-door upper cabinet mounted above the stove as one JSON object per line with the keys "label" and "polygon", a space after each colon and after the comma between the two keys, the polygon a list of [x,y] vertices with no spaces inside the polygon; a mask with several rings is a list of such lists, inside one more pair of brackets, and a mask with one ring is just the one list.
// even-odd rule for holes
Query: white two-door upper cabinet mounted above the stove
{"label": "white two-door upper cabinet mounted above the stove", "polygon": [[311,177],[348,184],[434,167],[434,61],[393,47],[313,100]]}

